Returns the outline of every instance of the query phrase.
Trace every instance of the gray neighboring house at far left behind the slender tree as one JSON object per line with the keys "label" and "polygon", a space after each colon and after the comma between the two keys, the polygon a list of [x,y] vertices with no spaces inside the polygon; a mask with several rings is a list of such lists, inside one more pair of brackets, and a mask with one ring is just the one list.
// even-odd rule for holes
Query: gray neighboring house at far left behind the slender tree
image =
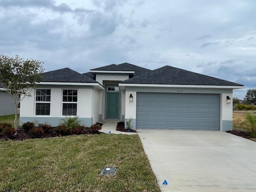
{"label": "gray neighboring house at far left behind the slender tree", "polygon": [[12,114],[15,114],[14,100],[0,84],[0,116]]}

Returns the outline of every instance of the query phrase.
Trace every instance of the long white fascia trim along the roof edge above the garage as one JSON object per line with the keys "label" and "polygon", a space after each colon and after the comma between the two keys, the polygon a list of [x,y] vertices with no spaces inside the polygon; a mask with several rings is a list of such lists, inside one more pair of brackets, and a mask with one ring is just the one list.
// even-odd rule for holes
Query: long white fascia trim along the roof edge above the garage
{"label": "long white fascia trim along the roof edge above the garage", "polygon": [[183,88],[222,88],[222,89],[242,89],[244,86],[218,86],[218,85],[170,85],[170,84],[124,84],[118,86],[130,87],[183,87]]}

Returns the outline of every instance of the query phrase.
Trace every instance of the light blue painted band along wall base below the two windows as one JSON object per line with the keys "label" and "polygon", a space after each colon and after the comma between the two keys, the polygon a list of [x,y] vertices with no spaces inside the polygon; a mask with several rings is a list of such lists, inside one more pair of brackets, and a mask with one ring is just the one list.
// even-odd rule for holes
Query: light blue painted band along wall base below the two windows
{"label": "light blue painted band along wall base below the two windows", "polygon": [[[57,126],[61,119],[65,117],[42,117],[42,116],[36,116],[36,117],[20,117],[20,126],[25,122],[38,122],[38,123],[44,123],[47,122],[51,126]],[[78,120],[81,121],[81,125],[85,125],[86,127],[90,127],[93,124],[93,118],[81,118],[78,117]]]}

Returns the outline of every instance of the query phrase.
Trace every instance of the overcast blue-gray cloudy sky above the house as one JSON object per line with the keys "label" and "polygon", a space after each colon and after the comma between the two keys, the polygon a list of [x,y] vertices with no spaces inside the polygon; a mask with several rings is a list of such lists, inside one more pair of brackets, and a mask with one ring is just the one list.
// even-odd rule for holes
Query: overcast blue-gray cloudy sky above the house
{"label": "overcast blue-gray cloudy sky above the house", "polygon": [[255,0],[0,0],[0,54],[80,73],[170,65],[256,88]]}

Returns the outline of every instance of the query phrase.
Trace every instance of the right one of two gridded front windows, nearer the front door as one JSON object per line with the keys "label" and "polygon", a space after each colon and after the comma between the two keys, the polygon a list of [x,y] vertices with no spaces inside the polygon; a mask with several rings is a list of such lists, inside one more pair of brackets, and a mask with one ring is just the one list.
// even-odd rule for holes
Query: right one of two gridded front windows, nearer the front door
{"label": "right one of two gridded front windows, nearer the front door", "polygon": [[64,89],[62,92],[62,115],[77,114],[77,90]]}

